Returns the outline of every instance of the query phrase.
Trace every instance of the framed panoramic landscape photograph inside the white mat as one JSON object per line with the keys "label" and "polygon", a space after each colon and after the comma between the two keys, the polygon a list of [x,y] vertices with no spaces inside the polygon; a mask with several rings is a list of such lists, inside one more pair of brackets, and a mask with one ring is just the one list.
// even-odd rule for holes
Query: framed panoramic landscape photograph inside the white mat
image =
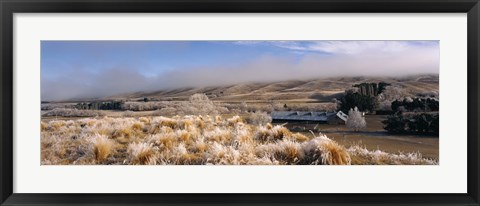
{"label": "framed panoramic landscape photograph inside the white mat", "polygon": [[438,165],[439,41],[42,41],[41,165]]}

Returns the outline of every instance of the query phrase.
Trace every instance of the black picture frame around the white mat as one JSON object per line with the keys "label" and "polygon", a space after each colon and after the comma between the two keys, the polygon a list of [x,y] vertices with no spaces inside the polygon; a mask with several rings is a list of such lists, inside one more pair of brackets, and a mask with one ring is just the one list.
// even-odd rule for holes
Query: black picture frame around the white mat
{"label": "black picture frame around the white mat", "polygon": [[[478,0],[0,0],[1,205],[480,205]],[[13,14],[112,12],[467,13],[466,194],[20,194],[13,193]],[[34,175],[34,174],[32,174]]]}

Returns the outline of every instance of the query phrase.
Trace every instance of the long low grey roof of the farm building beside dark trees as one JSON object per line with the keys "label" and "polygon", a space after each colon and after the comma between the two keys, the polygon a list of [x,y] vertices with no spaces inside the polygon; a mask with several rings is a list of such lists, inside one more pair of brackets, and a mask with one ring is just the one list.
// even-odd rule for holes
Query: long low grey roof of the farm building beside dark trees
{"label": "long low grey roof of the farm building beside dark trees", "polygon": [[300,121],[327,121],[328,118],[336,116],[336,112],[297,112],[297,111],[276,111],[272,112],[273,120],[300,120]]}

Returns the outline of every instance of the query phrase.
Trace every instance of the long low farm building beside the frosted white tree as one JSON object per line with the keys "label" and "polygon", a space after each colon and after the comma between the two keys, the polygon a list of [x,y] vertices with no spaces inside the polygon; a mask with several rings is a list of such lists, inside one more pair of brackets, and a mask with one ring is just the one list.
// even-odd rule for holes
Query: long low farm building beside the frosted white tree
{"label": "long low farm building beside the frosted white tree", "polygon": [[339,112],[296,112],[276,111],[272,112],[273,122],[307,122],[324,124],[345,124],[348,115]]}

